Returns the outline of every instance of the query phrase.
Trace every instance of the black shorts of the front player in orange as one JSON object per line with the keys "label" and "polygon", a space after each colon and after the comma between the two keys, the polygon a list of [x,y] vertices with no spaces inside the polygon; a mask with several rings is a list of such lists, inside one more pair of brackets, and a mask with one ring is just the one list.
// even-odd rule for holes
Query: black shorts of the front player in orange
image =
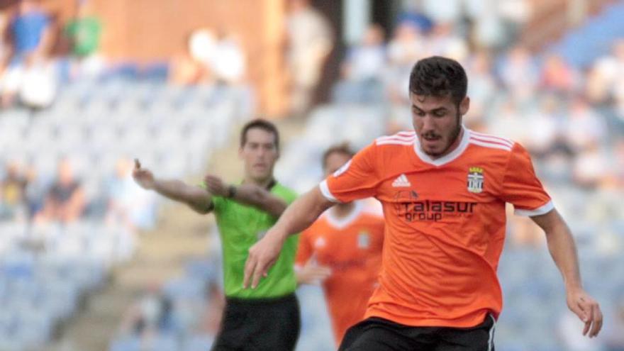
{"label": "black shorts of the front player in orange", "polygon": [[494,351],[494,317],[473,328],[411,327],[383,318],[353,325],[340,351]]}

